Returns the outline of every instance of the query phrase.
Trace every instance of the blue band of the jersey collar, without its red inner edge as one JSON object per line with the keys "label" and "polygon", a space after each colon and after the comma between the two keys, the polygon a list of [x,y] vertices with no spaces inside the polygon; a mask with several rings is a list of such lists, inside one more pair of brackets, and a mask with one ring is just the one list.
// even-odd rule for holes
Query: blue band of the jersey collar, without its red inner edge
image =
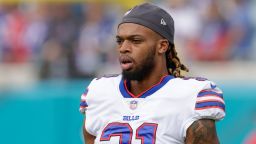
{"label": "blue band of the jersey collar, without its red inner edge", "polygon": [[[143,92],[143,94],[141,96],[139,96],[138,98],[146,98],[150,95],[152,95],[153,93],[155,93],[156,91],[158,91],[160,88],[162,88],[169,80],[173,79],[174,76],[172,75],[167,75],[165,76],[162,81],[153,86],[152,88],[146,90],[145,92]],[[120,84],[119,84],[119,90],[121,92],[121,94],[123,95],[124,98],[134,98],[132,95],[129,94],[129,92],[126,90],[125,88],[125,84],[124,84],[124,79],[121,79]]]}

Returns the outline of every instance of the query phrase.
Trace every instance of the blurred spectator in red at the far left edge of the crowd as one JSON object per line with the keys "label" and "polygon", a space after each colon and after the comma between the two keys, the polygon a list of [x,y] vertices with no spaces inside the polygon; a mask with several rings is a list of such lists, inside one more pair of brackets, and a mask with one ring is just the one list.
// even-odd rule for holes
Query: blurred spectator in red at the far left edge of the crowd
{"label": "blurred spectator in red at the far left edge of the crowd", "polygon": [[1,16],[2,61],[24,63],[29,60],[30,49],[24,42],[27,19],[19,5],[6,5]]}

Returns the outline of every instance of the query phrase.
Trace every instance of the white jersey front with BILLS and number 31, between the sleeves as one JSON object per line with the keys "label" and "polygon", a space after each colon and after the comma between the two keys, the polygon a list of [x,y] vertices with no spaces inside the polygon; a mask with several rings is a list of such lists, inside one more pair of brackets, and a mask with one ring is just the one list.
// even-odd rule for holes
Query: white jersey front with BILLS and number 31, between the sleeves
{"label": "white jersey front with BILLS and number 31, between the sleeves", "polygon": [[[116,89],[89,100],[88,128],[99,143],[182,143],[181,131],[193,107],[189,91],[161,89],[146,98],[125,98]],[[90,104],[91,103],[91,104]],[[88,121],[87,120],[87,121]],[[144,141],[144,142],[145,142]]]}

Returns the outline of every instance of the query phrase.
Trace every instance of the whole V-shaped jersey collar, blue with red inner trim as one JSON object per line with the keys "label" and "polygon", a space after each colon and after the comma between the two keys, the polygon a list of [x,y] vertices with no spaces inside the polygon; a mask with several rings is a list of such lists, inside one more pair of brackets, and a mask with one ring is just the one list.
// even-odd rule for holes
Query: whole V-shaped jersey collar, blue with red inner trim
{"label": "whole V-shaped jersey collar, blue with red inner trim", "polygon": [[155,93],[156,91],[158,91],[161,87],[163,87],[169,80],[173,79],[174,76],[172,75],[166,75],[163,76],[161,78],[161,80],[153,85],[152,87],[150,87],[149,89],[143,91],[142,93],[140,93],[139,95],[134,95],[132,94],[129,90],[127,85],[129,84],[129,82],[127,80],[122,79],[120,84],[119,84],[119,90],[121,92],[121,94],[123,95],[124,98],[146,98],[150,95],[152,95],[153,93]]}

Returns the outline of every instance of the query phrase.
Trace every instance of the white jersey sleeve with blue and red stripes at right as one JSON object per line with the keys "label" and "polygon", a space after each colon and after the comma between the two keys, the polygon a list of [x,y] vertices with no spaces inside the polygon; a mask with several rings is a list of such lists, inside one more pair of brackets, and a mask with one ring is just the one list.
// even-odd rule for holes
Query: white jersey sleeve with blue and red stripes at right
{"label": "white jersey sleeve with blue and red stripes at right", "polygon": [[214,82],[205,82],[206,84],[196,95],[191,115],[185,121],[183,137],[186,137],[187,129],[196,120],[213,119],[218,121],[225,117],[225,102],[222,90]]}

